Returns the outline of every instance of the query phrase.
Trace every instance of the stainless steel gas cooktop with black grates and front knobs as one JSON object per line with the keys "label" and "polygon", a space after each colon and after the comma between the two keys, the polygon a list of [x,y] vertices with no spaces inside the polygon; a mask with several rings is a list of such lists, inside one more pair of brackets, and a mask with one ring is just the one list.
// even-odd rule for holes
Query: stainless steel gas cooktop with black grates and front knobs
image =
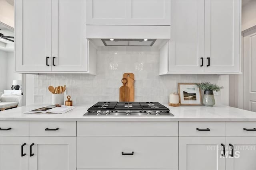
{"label": "stainless steel gas cooktop with black grates and front knobs", "polygon": [[158,102],[98,102],[84,116],[174,116]]}

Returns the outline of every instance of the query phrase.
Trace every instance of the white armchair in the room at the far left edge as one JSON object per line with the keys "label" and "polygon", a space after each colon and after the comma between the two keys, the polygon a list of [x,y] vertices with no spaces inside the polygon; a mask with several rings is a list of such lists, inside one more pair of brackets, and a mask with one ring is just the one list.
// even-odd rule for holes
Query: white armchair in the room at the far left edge
{"label": "white armchair in the room at the far left edge", "polygon": [[18,107],[21,105],[21,95],[5,95],[0,97],[0,110]]}

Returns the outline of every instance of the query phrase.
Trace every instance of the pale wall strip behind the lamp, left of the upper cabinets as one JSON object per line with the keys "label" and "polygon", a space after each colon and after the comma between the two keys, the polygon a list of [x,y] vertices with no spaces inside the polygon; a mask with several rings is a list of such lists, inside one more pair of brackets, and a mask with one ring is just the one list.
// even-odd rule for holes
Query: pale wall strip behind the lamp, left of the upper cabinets
{"label": "pale wall strip behind the lamp, left of the upper cabinets", "polygon": [[21,80],[21,74],[14,73],[14,52],[7,53],[7,88],[10,90],[12,86],[12,80]]}

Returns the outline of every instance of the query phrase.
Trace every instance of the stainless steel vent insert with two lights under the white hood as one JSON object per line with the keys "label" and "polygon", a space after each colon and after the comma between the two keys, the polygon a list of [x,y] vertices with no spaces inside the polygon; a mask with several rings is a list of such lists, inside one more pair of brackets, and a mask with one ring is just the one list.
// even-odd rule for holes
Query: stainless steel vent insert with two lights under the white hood
{"label": "stainless steel vent insert with two lights under the white hood", "polygon": [[152,46],[156,39],[101,39],[105,46]]}

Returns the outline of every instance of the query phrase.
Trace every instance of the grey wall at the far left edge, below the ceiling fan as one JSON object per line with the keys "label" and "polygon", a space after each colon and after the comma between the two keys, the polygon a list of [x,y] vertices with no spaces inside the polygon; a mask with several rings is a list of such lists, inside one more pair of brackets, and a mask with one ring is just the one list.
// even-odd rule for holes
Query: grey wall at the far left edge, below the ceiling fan
{"label": "grey wall at the far left edge, below the ceiling fan", "polygon": [[7,53],[0,50],[0,92],[7,88]]}

